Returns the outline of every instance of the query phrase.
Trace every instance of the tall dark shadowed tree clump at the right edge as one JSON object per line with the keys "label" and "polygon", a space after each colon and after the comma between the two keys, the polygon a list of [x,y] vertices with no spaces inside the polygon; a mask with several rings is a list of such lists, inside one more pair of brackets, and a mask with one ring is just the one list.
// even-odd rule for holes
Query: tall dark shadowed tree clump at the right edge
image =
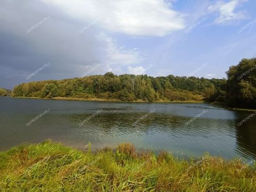
{"label": "tall dark shadowed tree clump at the right edge", "polygon": [[227,103],[233,107],[256,108],[256,58],[243,59],[227,71]]}

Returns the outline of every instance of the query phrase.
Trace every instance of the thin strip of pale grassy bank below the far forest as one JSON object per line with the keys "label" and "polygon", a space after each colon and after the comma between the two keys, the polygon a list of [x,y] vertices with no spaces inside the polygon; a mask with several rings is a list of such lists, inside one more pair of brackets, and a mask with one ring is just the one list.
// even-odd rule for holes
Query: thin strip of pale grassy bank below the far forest
{"label": "thin strip of pale grassy bank below the far forest", "polygon": [[[67,97],[54,97],[54,98],[38,98],[38,97],[13,97],[13,98],[27,98],[27,99],[46,99],[46,100],[66,100],[66,101],[105,101],[105,102],[143,102],[143,103],[149,103],[149,101],[143,101],[143,100],[136,100],[136,101],[121,101],[118,99],[100,99],[100,98],[67,98]],[[168,101],[168,100],[157,100],[150,103],[205,103],[202,101]]]}

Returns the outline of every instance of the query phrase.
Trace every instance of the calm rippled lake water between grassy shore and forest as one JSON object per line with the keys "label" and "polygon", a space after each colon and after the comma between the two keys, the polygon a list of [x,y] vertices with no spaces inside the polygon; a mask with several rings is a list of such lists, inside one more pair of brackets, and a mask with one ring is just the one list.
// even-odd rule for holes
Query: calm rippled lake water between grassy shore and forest
{"label": "calm rippled lake water between grassy shore and forest", "polygon": [[[207,104],[0,97],[0,149],[46,139],[78,148],[89,141],[93,148],[132,142],[138,149],[168,150],[177,156],[198,157],[208,151],[215,156],[251,161],[256,157],[256,116],[242,126],[237,123],[252,113]],[[185,126],[198,114],[201,116]]]}

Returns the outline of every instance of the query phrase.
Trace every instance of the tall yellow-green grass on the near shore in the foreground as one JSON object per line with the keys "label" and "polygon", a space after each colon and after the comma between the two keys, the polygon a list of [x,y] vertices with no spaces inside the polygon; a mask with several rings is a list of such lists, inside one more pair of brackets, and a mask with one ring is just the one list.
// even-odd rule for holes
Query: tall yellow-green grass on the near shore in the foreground
{"label": "tall yellow-green grass on the near shore in the foreground", "polygon": [[0,191],[256,191],[256,164],[182,160],[131,144],[92,153],[45,141],[0,153]]}

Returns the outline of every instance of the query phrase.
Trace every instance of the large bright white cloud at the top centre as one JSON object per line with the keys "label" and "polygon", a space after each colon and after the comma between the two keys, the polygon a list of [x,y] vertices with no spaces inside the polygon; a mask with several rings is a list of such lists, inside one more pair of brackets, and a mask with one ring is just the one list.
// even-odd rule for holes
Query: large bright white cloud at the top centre
{"label": "large bright white cloud at the top centre", "polygon": [[70,17],[110,31],[138,36],[165,36],[185,28],[183,15],[164,0],[41,0]]}

